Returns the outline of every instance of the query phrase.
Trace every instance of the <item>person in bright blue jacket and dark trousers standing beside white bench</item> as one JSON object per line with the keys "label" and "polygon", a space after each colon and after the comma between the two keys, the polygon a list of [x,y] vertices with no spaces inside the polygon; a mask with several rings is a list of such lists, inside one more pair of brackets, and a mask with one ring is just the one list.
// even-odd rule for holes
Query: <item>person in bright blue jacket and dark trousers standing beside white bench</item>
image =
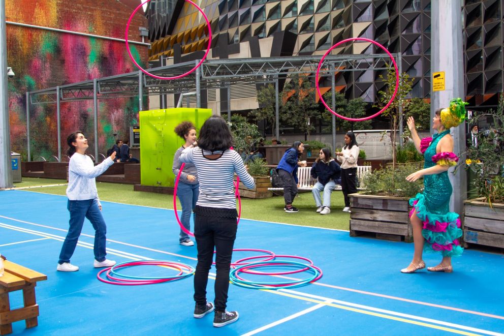
{"label": "person in bright blue jacket and dark trousers standing beside white bench", "polygon": [[306,167],[306,161],[299,161],[299,155],[303,154],[304,144],[296,141],[292,147],[283,154],[276,171],[283,182],[283,199],[285,199],[285,212],[298,212],[299,210],[292,206],[292,201],[298,193],[298,167]]}

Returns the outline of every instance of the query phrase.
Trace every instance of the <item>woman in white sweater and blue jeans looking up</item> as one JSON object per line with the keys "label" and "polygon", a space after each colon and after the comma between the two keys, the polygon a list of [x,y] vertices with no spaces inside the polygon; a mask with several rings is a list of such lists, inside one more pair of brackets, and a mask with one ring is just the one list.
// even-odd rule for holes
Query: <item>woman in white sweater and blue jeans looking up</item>
{"label": "woman in white sweater and blue jeans looking up", "polygon": [[79,270],[78,266],[70,263],[70,258],[74,254],[77,241],[79,240],[84,218],[87,218],[94,232],[94,267],[111,267],[115,261],[105,258],[105,243],[107,226],[102,216],[102,204],[98,198],[95,177],[103,174],[108,167],[114,163],[115,151],[101,164],[94,166],[93,161],[85,153],[87,139],[82,132],[72,133],[67,138],[70,157],[68,165],[68,188],[67,208],[70,211],[70,228],[68,230],[61,252],[57,270],[64,272],[74,272]]}

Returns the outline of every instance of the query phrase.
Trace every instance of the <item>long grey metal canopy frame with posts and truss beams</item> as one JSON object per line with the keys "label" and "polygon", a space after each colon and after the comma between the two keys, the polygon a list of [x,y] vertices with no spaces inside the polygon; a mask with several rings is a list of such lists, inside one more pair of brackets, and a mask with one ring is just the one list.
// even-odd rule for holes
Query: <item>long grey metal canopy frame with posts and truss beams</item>
{"label": "long grey metal canopy frame with posts and truss beams", "polygon": [[[392,54],[400,60],[399,54]],[[228,88],[234,82],[250,81],[255,83],[276,83],[276,113],[278,119],[278,78],[291,74],[304,74],[309,78],[315,77],[317,67],[322,56],[286,56],[286,57],[258,57],[258,58],[228,58],[207,59],[201,67],[191,74],[174,80],[156,79],[135,71],[120,75],[108,76],[78,83],[60,85],[26,93],[26,120],[29,148],[29,107],[30,105],[54,104],[57,106],[57,119],[60,120],[60,102],[93,100],[94,117],[98,116],[98,99],[139,97],[140,108],[143,106],[143,95],[167,95],[196,92],[196,105],[201,105],[201,90]],[[194,69],[200,60],[178,63],[149,69],[149,72],[161,77],[176,77]],[[387,54],[358,54],[358,55],[328,55],[324,59],[320,70],[321,77],[327,77],[335,72],[368,71],[390,69],[390,57]],[[401,62],[399,73],[401,72]],[[332,76],[333,77],[333,76]],[[335,81],[331,80],[334,96]],[[334,109],[334,99],[332,107]],[[228,102],[228,118],[231,116]],[[335,116],[333,115],[333,148],[335,147]],[[95,123],[94,157],[98,160],[98,130]],[[58,128],[58,138],[60,130]],[[278,136],[279,125],[276,124]],[[58,160],[61,160],[61,149],[58,143]]]}

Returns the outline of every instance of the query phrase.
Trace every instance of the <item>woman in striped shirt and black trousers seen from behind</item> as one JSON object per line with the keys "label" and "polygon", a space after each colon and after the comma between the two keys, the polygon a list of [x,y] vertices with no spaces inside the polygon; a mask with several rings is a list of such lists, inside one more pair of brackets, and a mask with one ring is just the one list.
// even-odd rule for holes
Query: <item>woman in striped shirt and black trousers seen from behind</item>
{"label": "woman in striped shirt and black trousers seen from behind", "polygon": [[218,115],[208,118],[200,130],[197,144],[185,148],[180,162],[193,163],[198,171],[200,194],[194,212],[194,236],[198,247],[198,264],[194,274],[194,317],[201,318],[214,310],[206,300],[208,272],[215,248],[215,314],[214,327],[238,319],[238,312],[228,312],[229,270],[236,238],[238,213],[233,177],[252,189],[254,178],[248,174],[240,155],[230,149],[233,136],[226,121]]}

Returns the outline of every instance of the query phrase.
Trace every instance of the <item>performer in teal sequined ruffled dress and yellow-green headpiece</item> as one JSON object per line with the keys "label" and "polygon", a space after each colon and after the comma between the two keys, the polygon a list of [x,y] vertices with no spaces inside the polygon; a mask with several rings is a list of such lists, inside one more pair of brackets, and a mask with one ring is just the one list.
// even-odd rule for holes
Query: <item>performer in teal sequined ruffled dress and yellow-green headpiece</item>
{"label": "performer in teal sequined ruffled dress and yellow-green headpiece", "polygon": [[465,108],[460,98],[453,99],[450,107],[438,109],[433,119],[432,128],[437,130],[432,138],[420,140],[415,129],[415,120],[409,117],[407,125],[411,131],[417,150],[424,155],[424,169],[406,177],[409,182],[424,178],[424,191],[409,200],[413,206],[410,212],[413,227],[415,252],[408,267],[403,273],[413,273],[425,268],[422,252],[441,252],[443,260],[432,272],[452,272],[452,257],[460,256],[463,248],[459,238],[462,236],[459,215],[450,212],[452,185],[448,178],[448,169],[457,164],[458,158],[453,153],[453,138],[450,128],[456,127],[465,119]]}

